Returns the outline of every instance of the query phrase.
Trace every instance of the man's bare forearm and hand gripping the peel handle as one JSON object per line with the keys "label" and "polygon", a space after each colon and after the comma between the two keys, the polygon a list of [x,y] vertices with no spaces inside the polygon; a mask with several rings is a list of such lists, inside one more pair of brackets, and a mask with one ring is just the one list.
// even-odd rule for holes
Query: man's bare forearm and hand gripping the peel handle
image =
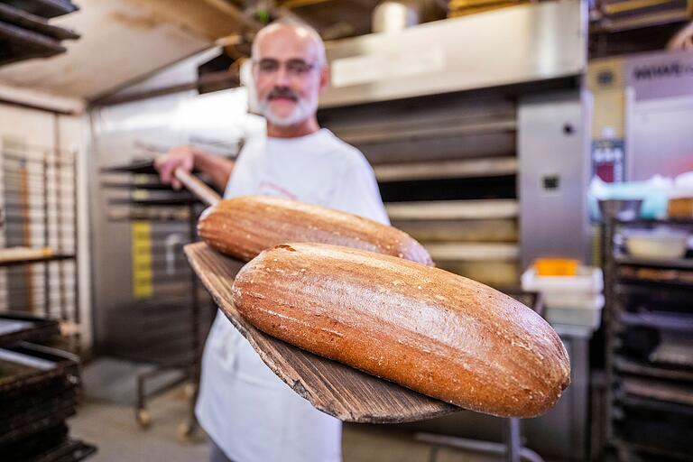
{"label": "man's bare forearm and hand gripping the peel handle", "polygon": [[176,169],[192,171],[193,168],[208,176],[217,189],[226,189],[226,183],[231,177],[236,162],[221,156],[202,152],[192,146],[185,145],[171,149],[154,161],[154,167],[159,171],[159,176],[166,184],[171,184],[174,189],[180,189],[180,181],[173,174]]}

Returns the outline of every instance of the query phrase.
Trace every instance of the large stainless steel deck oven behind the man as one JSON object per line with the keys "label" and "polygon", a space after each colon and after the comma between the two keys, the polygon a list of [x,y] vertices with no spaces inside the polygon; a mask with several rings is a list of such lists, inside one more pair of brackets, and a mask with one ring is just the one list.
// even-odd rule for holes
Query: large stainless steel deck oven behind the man
{"label": "large stainless steel deck oven behind the man", "polygon": [[[533,258],[587,259],[590,98],[580,2],[517,6],[328,45],[319,120],[374,166],[394,226],[444,269],[500,289]],[[573,385],[522,422],[544,457],[587,457],[587,338],[561,336]],[[503,440],[472,412],[405,430]]]}

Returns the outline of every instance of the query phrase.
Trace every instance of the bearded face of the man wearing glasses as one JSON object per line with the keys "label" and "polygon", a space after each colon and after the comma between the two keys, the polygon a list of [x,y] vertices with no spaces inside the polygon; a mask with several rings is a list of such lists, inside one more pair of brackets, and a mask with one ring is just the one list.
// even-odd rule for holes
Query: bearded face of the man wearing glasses
{"label": "bearded face of the man wearing glasses", "polygon": [[273,125],[297,125],[318,110],[328,79],[319,48],[310,35],[280,26],[263,35],[253,57],[253,79],[260,109]]}

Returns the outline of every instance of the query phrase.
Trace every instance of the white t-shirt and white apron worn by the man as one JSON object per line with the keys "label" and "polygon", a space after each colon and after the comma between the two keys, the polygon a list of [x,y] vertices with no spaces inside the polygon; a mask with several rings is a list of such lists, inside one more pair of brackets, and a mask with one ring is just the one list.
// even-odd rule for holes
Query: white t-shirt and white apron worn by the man
{"label": "white t-shirt and white apron worn by the man", "polygon": [[[251,194],[298,199],[389,224],[364,155],[327,129],[247,143],[225,197]],[[313,408],[274,375],[220,311],[202,358],[196,414],[234,462],[341,460],[341,421]]]}

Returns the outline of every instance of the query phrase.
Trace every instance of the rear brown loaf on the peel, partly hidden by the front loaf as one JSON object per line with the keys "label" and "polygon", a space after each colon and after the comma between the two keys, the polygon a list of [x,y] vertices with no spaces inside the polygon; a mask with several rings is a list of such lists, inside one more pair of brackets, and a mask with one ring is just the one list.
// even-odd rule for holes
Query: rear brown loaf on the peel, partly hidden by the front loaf
{"label": "rear brown loaf on the peel, partly hidden by the front loaf", "polygon": [[199,236],[217,251],[250,260],[273,245],[346,245],[432,265],[414,238],[393,226],[332,208],[269,196],[225,199],[202,214]]}

